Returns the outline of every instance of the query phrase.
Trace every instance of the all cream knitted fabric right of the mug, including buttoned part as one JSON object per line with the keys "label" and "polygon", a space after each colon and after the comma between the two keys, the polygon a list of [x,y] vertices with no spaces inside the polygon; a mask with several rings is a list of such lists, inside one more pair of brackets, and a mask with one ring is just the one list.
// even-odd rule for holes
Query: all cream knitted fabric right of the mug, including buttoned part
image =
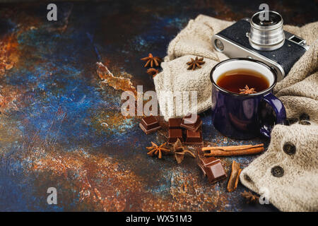
{"label": "all cream knitted fabric right of the mug, including buttoned part", "polygon": [[[242,170],[240,181],[280,210],[318,211],[318,40],[274,91],[288,118],[300,120],[305,115],[309,121],[276,125],[268,150]],[[287,142],[295,145],[295,154],[284,152]],[[271,174],[275,166],[283,168],[283,177]]]}

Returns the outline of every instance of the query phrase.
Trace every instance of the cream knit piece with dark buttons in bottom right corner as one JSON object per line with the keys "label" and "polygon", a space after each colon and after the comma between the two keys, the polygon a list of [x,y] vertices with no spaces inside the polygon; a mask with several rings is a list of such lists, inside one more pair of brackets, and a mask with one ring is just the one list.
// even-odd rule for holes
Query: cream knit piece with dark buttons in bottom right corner
{"label": "cream knit piece with dark buttons in bottom right corner", "polygon": [[[318,211],[318,125],[277,125],[266,152],[242,170],[240,182],[269,198],[282,211]],[[294,155],[283,151],[286,142],[296,147]],[[283,177],[271,174],[273,167]]]}

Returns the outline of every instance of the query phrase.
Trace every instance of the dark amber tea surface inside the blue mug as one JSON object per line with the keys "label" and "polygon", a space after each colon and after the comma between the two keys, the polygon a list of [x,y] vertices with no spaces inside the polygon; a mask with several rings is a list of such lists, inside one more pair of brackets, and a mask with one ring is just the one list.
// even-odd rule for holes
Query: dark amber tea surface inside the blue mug
{"label": "dark amber tea surface inside the blue mug", "polygon": [[269,80],[261,73],[250,69],[235,69],[221,74],[216,81],[221,88],[232,93],[240,93],[247,85],[254,88],[256,93],[269,88]]}

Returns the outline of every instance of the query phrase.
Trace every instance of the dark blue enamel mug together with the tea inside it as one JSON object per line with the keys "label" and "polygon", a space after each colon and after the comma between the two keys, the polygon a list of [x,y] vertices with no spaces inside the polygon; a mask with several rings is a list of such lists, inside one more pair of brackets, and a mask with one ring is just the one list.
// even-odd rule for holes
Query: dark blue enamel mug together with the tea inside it
{"label": "dark blue enamel mug together with the tea inside it", "polygon": [[[211,121],[230,138],[271,136],[276,124],[286,119],[285,107],[272,94],[277,73],[261,61],[232,58],[213,67]],[[248,87],[247,87],[248,86]]]}

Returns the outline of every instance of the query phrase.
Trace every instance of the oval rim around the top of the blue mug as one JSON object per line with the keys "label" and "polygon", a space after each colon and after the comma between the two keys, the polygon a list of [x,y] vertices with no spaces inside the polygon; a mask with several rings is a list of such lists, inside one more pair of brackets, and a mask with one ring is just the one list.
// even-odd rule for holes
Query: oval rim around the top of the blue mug
{"label": "oval rim around the top of the blue mug", "polygon": [[[239,93],[234,93],[228,90],[225,90],[224,88],[220,87],[218,84],[216,84],[216,81],[213,80],[213,72],[216,71],[216,69],[218,68],[218,66],[228,62],[228,61],[252,61],[254,63],[257,64],[261,64],[262,66],[265,66],[267,69],[269,69],[269,71],[271,71],[271,73],[273,73],[273,83],[269,86],[269,88],[266,88],[266,90],[262,90],[261,92],[257,92],[257,93],[250,93],[250,94],[239,94]],[[224,93],[228,93],[230,95],[235,95],[235,96],[240,96],[240,97],[247,97],[247,96],[257,96],[257,95],[263,95],[264,93],[268,93],[269,91],[271,91],[273,89],[273,87],[276,85],[277,83],[277,73],[275,71],[275,69],[273,69],[272,67],[268,66],[267,64],[265,64],[262,61],[259,61],[257,59],[250,59],[250,58],[244,58],[244,57],[237,57],[237,58],[230,58],[230,59],[225,59],[224,61],[220,61],[218,64],[216,64],[215,66],[213,66],[213,69],[210,72],[210,80],[211,83],[213,85],[216,86],[216,88],[218,88],[218,90],[223,91]]]}

